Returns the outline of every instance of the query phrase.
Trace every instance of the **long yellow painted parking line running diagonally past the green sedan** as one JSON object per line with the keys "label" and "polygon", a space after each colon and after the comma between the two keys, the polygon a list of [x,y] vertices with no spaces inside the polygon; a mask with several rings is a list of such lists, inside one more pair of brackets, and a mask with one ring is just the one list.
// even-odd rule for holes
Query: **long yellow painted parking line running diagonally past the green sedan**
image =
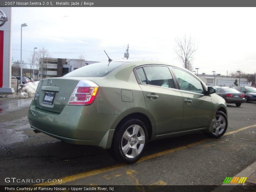
{"label": "long yellow painted parking line running diagonally past the green sedan", "polygon": [[[228,133],[224,134],[224,136],[225,135],[230,135],[230,134],[233,134],[233,133],[236,133],[236,132],[240,132],[240,131],[243,131],[245,129],[252,128],[252,127],[256,127],[256,124],[237,129],[236,131],[228,132]],[[185,148],[189,148],[189,147],[192,147],[192,146],[195,146],[195,145],[199,145],[199,144],[204,143],[204,142],[209,141],[209,140],[211,140],[211,139],[204,139],[204,140],[201,140],[201,141],[190,143],[188,145],[183,145],[183,146],[180,146],[180,147],[177,147],[177,148],[173,148],[173,149],[169,149],[169,150],[162,151],[162,152],[159,152],[159,153],[155,153],[155,154],[152,154],[152,155],[144,156],[144,157],[140,158],[139,161],[137,161],[136,163],[146,161],[148,159],[152,159],[152,158],[155,158],[155,157],[158,157],[158,156],[163,156],[165,154],[172,153],[172,152],[175,152],[175,151],[179,151],[181,149],[185,149]],[[120,167],[125,167],[125,166],[128,166],[128,165],[129,164],[116,164],[116,165],[113,165],[113,166],[104,167],[104,168],[101,168],[101,169],[96,169],[96,170],[80,173],[80,174],[77,174],[77,175],[63,177],[63,178],[61,178],[62,182],[39,183],[39,184],[36,184],[36,185],[60,185],[60,184],[64,184],[64,183],[67,183],[67,182],[74,181],[74,180],[89,177],[89,176],[92,176],[92,175],[97,175],[97,174],[100,174],[100,173],[103,173],[103,172],[111,171],[111,170],[114,170],[114,169],[117,169],[117,168],[120,168]]]}

